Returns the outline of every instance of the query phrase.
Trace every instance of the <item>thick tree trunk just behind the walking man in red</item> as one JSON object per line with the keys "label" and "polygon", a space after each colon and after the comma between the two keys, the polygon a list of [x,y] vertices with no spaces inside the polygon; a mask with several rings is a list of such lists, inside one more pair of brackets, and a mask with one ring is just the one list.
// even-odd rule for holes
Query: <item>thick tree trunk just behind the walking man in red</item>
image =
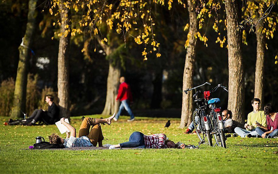
{"label": "thick tree trunk just behind the walking man in red", "polygon": [[[107,57],[109,57],[109,51],[106,51]],[[119,80],[120,80],[121,68],[120,61],[109,59],[109,72],[107,77],[107,91],[106,102],[102,115],[110,115],[114,112],[118,112],[119,101],[116,101],[118,94]]]}

